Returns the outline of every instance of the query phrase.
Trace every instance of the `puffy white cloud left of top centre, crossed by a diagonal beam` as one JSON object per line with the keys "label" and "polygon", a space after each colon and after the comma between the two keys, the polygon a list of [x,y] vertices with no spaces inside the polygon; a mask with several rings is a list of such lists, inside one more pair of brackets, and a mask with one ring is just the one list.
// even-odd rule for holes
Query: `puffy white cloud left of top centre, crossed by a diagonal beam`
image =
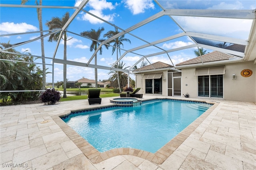
{"label": "puffy white cloud left of top centre, crossed by a diagonal beam", "polygon": [[[79,5],[81,3],[80,0],[76,0],[75,6]],[[116,16],[116,13],[113,14],[103,14],[103,10],[113,10],[115,6],[111,2],[107,2],[106,0],[90,0],[88,2],[88,6],[92,8],[92,10],[89,10],[88,12],[106,20],[109,22],[114,21],[114,17]],[[78,17],[79,20],[85,20],[89,21],[91,24],[99,24],[103,23],[102,20],[99,20],[98,18],[95,18],[94,16],[91,16],[89,14],[86,14],[84,12],[80,13],[82,16]]]}

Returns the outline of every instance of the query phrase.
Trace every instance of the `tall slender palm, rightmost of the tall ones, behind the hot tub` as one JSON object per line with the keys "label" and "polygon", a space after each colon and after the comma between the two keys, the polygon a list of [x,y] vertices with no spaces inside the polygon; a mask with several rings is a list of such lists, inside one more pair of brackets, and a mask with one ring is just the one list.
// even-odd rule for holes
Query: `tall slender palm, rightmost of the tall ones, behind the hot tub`
{"label": "tall slender palm, rightmost of the tall ones, behind the hot tub", "polygon": [[[110,30],[108,31],[106,34],[104,34],[104,37],[107,37],[107,38],[111,38],[112,36],[115,36],[116,34],[120,33],[118,31],[117,28],[115,28],[114,31]],[[112,48],[112,55],[114,54],[114,52],[116,51],[116,60],[118,60],[118,49],[119,49],[119,54],[121,55],[121,52],[120,52],[120,46],[122,45],[122,47],[124,47],[124,44],[122,42],[129,42],[131,43],[131,41],[127,38],[124,38],[124,35],[118,37],[118,38],[115,38],[114,40],[110,41],[109,43],[114,43],[114,47]],[[121,92],[121,86],[120,86],[120,79],[119,79],[119,73],[117,71],[117,81],[118,81],[118,87],[119,87],[119,91]]]}

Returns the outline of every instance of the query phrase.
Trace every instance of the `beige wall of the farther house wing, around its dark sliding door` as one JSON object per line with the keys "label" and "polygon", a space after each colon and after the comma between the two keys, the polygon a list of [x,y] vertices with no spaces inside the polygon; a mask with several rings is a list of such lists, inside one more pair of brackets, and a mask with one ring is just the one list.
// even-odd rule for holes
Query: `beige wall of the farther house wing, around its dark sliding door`
{"label": "beige wall of the farther house wing, around its dark sliding door", "polygon": [[[164,71],[152,71],[152,72],[146,72],[145,74],[151,74],[151,73],[160,73],[162,72],[162,95],[167,96],[167,70]],[[145,79],[141,79],[144,73],[136,73],[136,88],[140,87],[140,91],[138,93],[145,94]],[[166,81],[164,81],[164,78]]]}

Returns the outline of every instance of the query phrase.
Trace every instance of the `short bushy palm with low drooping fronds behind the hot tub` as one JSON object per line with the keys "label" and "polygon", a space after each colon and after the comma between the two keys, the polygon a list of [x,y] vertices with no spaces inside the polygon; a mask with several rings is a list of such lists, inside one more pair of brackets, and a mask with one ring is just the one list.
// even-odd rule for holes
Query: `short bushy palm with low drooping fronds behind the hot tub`
{"label": "short bushy palm with low drooping fronds behind the hot tub", "polygon": [[[114,68],[118,68],[118,69],[127,69],[128,67],[124,68],[125,63],[118,63],[116,65],[114,65]],[[119,72],[119,73],[118,73]],[[111,74],[111,76],[108,78],[108,81],[110,81],[110,86],[111,87],[118,87],[118,75],[119,75],[119,79],[120,79],[120,86],[121,87],[125,87],[127,85],[127,81],[128,81],[128,75],[125,72],[122,71],[110,71],[108,72],[108,74]],[[130,81],[132,81],[132,79],[129,77]]]}

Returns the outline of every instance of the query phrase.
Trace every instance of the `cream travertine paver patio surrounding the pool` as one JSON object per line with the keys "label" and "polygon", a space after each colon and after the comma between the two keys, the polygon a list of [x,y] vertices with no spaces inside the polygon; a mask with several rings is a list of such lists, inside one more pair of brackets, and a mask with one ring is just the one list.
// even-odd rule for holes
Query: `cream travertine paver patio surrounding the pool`
{"label": "cream travertine paver patio surrounding the pool", "polygon": [[[143,98],[155,97],[144,95]],[[109,99],[103,98],[101,105],[88,105],[87,100],[79,100],[56,105],[0,107],[1,170],[256,169],[254,103],[217,101],[155,154],[126,148],[98,155],[93,146],[65,126],[57,115],[107,106]]]}

